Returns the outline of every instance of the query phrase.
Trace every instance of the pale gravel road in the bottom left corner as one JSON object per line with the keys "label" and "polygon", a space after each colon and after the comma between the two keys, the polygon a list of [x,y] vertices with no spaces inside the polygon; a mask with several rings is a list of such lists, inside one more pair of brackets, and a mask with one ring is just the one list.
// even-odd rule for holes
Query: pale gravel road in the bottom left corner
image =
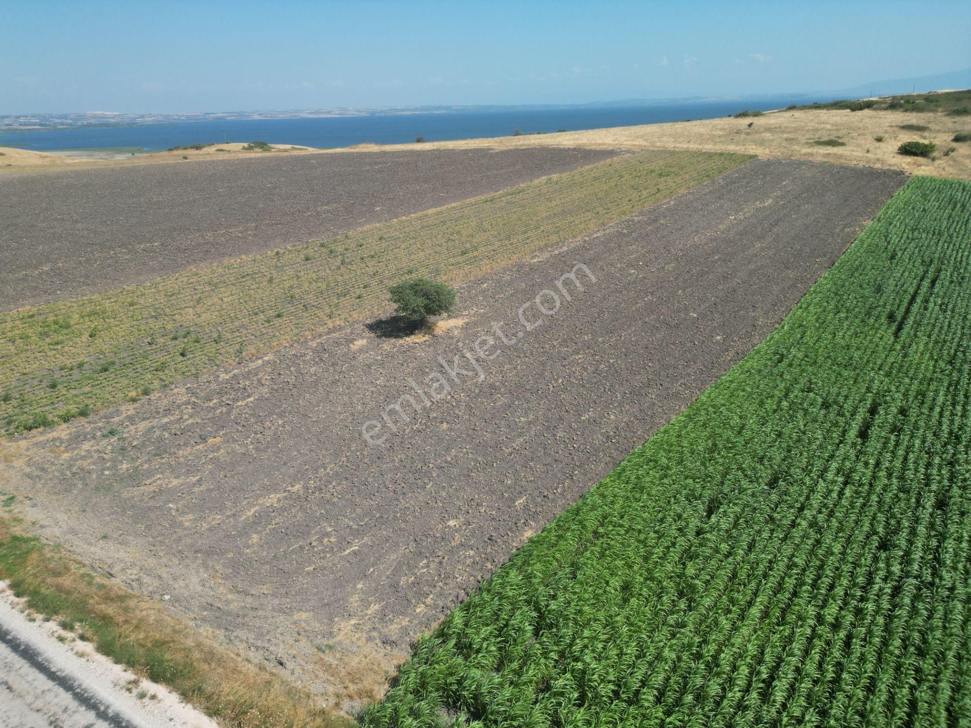
{"label": "pale gravel road in the bottom left corner", "polygon": [[28,620],[16,604],[0,582],[0,728],[217,728],[56,626]]}

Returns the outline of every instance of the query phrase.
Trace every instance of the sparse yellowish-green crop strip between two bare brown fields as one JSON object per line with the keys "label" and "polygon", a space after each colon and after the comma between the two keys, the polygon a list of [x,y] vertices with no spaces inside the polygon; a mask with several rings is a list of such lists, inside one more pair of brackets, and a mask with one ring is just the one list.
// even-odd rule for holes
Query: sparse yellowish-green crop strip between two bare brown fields
{"label": "sparse yellowish-green crop strip between two bare brown fields", "polygon": [[639,212],[750,157],[627,154],[351,233],[0,314],[8,433],[377,314],[389,285],[455,283]]}

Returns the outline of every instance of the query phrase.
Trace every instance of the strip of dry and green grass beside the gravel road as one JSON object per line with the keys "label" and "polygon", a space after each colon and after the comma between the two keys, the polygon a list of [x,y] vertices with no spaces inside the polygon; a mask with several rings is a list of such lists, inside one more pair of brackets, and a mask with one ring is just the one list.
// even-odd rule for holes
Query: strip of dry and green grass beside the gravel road
{"label": "strip of dry and green grass beside the gravel road", "polygon": [[0,516],[0,579],[27,607],[196,709],[239,728],[350,728],[309,692],[258,668],[182,620]]}

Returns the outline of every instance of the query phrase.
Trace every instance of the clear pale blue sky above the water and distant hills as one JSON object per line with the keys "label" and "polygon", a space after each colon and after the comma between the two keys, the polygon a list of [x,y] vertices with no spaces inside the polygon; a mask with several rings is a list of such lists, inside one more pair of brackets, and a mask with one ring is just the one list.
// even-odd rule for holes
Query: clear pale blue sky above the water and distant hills
{"label": "clear pale blue sky above the water and distant hills", "polygon": [[971,2],[0,0],[0,114],[839,90],[971,66]]}

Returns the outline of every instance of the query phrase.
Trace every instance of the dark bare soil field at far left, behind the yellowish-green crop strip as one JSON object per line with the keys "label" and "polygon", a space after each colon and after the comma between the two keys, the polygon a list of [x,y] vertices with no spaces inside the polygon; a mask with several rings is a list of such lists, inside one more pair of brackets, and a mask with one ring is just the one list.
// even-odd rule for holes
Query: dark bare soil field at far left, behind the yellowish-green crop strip
{"label": "dark bare soil field at far left, behind the yellowish-green crop strip", "polygon": [[0,310],[306,243],[614,153],[347,152],[7,176],[0,179]]}

